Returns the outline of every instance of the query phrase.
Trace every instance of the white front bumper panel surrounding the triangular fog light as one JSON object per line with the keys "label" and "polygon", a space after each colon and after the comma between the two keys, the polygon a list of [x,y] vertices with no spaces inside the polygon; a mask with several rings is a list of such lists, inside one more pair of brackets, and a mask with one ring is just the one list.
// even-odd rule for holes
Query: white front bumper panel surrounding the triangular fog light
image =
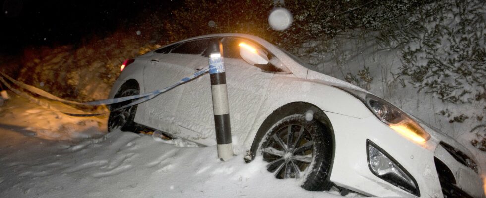
{"label": "white front bumper panel surrounding the triangular fog light", "polygon": [[[370,171],[366,140],[371,140],[415,178],[421,195],[434,197],[433,195],[442,194],[433,159],[433,151],[438,144],[436,140],[418,145],[402,137],[374,116],[364,119],[349,118],[335,113],[327,113],[327,116],[333,123],[336,141],[331,181],[370,196],[412,196],[377,178]],[[350,122],[353,124],[349,124]]]}

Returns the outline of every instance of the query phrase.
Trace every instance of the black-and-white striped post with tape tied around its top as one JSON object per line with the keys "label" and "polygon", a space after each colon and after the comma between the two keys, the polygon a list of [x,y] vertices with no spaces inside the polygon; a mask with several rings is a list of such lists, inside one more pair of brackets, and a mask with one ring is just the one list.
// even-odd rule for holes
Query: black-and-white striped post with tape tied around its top
{"label": "black-and-white striped post with tape tied around its top", "polygon": [[227,161],[233,156],[233,144],[231,143],[230,108],[228,105],[223,47],[219,39],[215,39],[209,44],[209,75],[213,96],[218,157],[223,161]]}

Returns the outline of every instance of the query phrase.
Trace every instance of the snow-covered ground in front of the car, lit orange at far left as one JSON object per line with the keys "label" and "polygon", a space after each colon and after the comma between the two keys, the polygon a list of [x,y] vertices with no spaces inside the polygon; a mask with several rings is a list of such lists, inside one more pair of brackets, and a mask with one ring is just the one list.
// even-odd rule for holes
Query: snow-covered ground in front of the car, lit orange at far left
{"label": "snow-covered ground in front of the car, lit orange at far left", "polygon": [[277,180],[263,160],[222,162],[215,146],[107,134],[106,117],[71,117],[10,97],[0,106],[1,198],[341,197]]}

